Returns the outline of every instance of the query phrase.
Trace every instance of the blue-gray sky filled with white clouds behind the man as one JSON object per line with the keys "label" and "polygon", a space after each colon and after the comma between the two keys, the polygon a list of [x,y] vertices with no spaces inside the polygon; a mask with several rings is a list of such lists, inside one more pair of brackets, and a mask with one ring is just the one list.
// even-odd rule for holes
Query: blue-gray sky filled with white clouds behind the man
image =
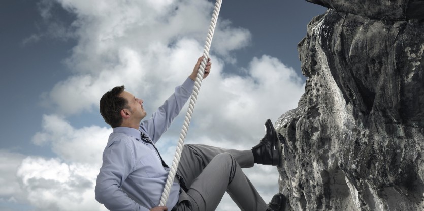
{"label": "blue-gray sky filled with white clouds behind the man", "polygon": [[[111,128],[100,97],[124,84],[150,116],[202,55],[207,0],[0,2],[0,210],[106,210],[95,179]],[[223,1],[186,143],[250,149],[304,93],[297,44],[326,8],[302,0]],[[186,107],[157,147],[167,163]],[[276,167],[246,175],[268,202]],[[217,210],[237,210],[225,196]]]}

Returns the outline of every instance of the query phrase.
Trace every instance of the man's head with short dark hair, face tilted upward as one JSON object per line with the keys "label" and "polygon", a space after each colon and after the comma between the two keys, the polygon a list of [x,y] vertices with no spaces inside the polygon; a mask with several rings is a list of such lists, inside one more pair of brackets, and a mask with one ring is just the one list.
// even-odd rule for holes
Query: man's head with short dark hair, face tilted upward
{"label": "man's head with short dark hair, face tilted upward", "polygon": [[112,128],[119,126],[138,128],[146,116],[143,100],[125,91],[125,86],[116,86],[100,99],[100,114]]}

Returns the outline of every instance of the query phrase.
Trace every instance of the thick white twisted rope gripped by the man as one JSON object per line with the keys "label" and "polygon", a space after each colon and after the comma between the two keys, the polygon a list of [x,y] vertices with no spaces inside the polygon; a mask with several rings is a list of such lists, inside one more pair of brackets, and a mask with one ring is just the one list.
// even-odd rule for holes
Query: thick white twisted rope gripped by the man
{"label": "thick white twisted rope gripped by the man", "polygon": [[203,50],[203,60],[198,70],[196,81],[194,81],[194,89],[191,93],[190,104],[188,105],[187,114],[184,119],[184,124],[181,130],[180,138],[178,139],[177,149],[175,150],[174,160],[172,161],[171,170],[168,175],[167,183],[165,184],[164,192],[160,198],[159,206],[165,206],[168,201],[169,193],[171,192],[172,183],[174,182],[175,173],[180,162],[181,152],[183,149],[185,137],[187,136],[188,127],[190,125],[191,115],[193,114],[194,106],[196,104],[200,85],[203,80],[203,75],[205,74],[206,63],[209,58],[209,49],[212,43],[213,33],[215,31],[216,21],[218,19],[219,10],[221,8],[222,0],[216,0],[215,8],[213,10],[211,24],[209,26],[208,36],[206,37],[205,48]]}

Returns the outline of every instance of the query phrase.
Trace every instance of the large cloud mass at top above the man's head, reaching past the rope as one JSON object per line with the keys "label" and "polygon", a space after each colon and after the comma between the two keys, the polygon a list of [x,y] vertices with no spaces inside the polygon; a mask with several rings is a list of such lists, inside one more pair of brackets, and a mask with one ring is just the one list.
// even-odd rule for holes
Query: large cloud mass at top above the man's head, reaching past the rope
{"label": "large cloud mass at top above the man's head, reaching past the rope", "polygon": [[[208,1],[59,2],[78,17],[73,23],[78,45],[67,59],[76,74],[57,83],[43,101],[65,115],[91,111],[116,85],[145,90],[140,94],[158,82],[178,85],[202,54],[213,9]],[[220,21],[215,34],[214,52],[220,54],[250,39],[246,29],[229,21]]]}

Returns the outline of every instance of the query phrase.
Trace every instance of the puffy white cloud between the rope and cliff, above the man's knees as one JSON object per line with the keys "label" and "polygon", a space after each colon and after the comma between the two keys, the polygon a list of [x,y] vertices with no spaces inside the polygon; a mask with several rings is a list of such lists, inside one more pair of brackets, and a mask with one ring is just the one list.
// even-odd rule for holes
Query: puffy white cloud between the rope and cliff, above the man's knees
{"label": "puffy white cloud between the rope and cliff, above the man's knees", "polygon": [[292,68],[264,55],[253,58],[246,71],[247,76],[230,77],[213,72],[204,81],[193,115],[198,127],[193,137],[253,146],[264,135],[266,119],[275,122],[297,107],[304,84]]}

